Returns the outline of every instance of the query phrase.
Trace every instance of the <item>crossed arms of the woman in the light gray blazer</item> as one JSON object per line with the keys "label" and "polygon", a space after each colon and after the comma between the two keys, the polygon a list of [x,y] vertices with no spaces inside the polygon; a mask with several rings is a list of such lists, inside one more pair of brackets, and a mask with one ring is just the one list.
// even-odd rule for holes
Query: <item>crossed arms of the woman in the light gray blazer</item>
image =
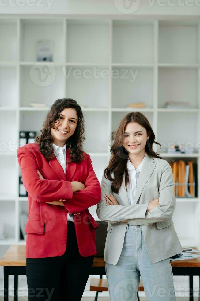
{"label": "crossed arms of the woman in the light gray blazer", "polygon": [[116,203],[116,199],[112,194],[108,197],[109,193],[111,193],[111,181],[103,176],[101,182],[101,201],[97,204],[97,215],[102,221],[111,223],[126,221],[130,225],[149,225],[172,218],[175,209],[172,169],[165,160],[162,162],[159,203],[154,208],[151,206],[152,202],[149,204],[122,206]]}

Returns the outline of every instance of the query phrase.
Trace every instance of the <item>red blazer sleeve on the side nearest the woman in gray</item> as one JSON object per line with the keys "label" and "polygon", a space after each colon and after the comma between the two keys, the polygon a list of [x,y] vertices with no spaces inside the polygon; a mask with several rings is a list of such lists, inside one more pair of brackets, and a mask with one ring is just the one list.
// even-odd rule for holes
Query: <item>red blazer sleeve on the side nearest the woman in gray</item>
{"label": "red blazer sleeve on the side nearest the woman in gray", "polygon": [[73,193],[71,199],[63,202],[69,214],[84,211],[90,206],[96,205],[101,199],[101,187],[93,170],[90,156],[87,157],[88,176],[85,180],[85,189]]}

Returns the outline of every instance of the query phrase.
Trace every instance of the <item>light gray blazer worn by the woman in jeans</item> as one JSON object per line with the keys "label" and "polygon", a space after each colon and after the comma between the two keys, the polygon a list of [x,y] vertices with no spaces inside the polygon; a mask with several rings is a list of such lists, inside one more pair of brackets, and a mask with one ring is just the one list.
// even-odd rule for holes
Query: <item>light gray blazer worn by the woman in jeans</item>
{"label": "light gray blazer worn by the woman in jeans", "polygon": [[[114,177],[114,174],[113,176]],[[130,205],[123,178],[119,193],[111,190],[111,181],[103,175],[101,201],[97,216],[108,222],[104,260],[117,264],[122,251],[127,220],[130,225],[141,225],[149,258],[152,262],[169,258],[182,251],[175,232],[172,215],[175,209],[174,179],[166,160],[146,154],[136,188],[135,204]],[[119,205],[107,205],[105,193],[112,193]],[[159,207],[146,212],[148,203],[159,198]]]}

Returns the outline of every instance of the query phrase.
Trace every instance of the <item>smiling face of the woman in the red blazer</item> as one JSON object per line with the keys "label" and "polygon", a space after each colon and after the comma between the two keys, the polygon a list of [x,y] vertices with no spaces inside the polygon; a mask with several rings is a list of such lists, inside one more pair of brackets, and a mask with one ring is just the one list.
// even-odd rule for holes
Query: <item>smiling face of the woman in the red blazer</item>
{"label": "smiling face of the woman in the red blazer", "polygon": [[78,115],[73,108],[65,108],[59,115],[59,119],[53,124],[55,128],[51,128],[51,136],[55,145],[63,147],[67,139],[74,134]]}

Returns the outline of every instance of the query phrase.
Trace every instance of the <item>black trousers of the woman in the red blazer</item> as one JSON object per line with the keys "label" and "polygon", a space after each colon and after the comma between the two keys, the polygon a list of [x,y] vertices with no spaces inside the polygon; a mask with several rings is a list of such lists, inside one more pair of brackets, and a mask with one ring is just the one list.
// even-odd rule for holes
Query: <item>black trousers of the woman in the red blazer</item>
{"label": "black trousers of the woman in the red blazer", "polygon": [[81,300],[94,255],[81,256],[74,223],[68,221],[67,229],[66,252],[62,256],[26,258],[29,301]]}

